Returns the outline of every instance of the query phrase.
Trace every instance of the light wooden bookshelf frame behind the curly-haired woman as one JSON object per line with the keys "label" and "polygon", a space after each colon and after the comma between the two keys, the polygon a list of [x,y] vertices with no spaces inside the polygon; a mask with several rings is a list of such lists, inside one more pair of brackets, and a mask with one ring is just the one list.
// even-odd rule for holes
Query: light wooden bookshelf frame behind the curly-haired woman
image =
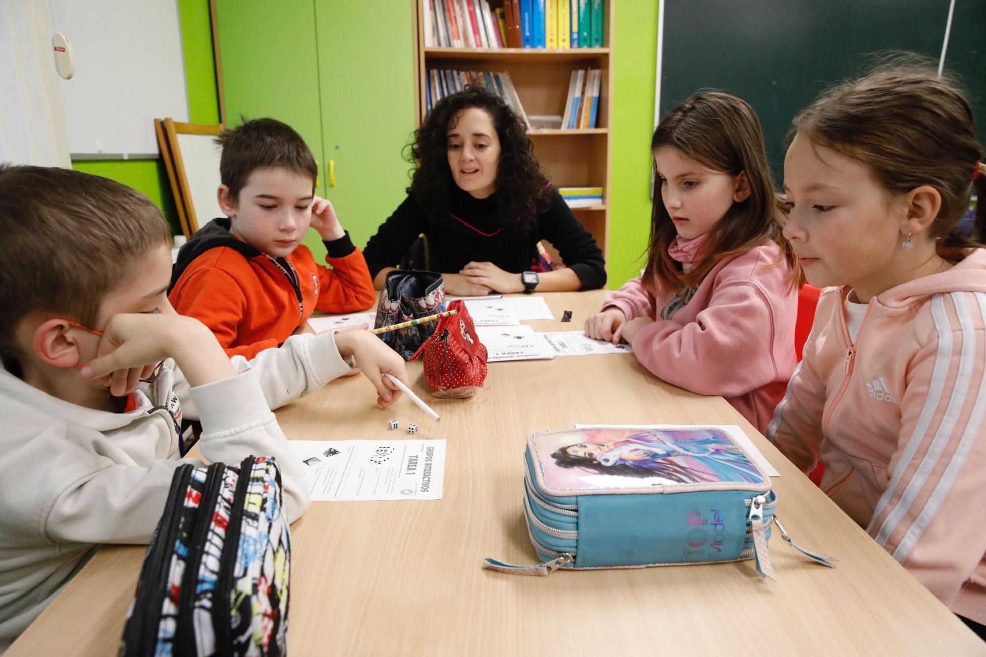
{"label": "light wooden bookshelf frame behind the curly-haired woman", "polygon": [[[425,5],[428,0],[412,0],[414,7],[414,98],[415,121],[421,125],[427,111],[425,85],[429,69],[506,71],[510,73],[524,110],[530,115],[562,115],[568,98],[573,70],[598,68],[599,118],[597,127],[584,129],[528,130],[534,155],[548,178],[558,187],[601,186],[603,203],[573,208],[608,261],[610,159],[612,138],[612,57],[613,2],[603,3],[603,47],[571,49],[545,48],[451,48],[425,45]],[[494,8],[500,0],[490,2]],[[545,245],[547,246],[547,245]],[[554,261],[558,254],[549,248]]]}

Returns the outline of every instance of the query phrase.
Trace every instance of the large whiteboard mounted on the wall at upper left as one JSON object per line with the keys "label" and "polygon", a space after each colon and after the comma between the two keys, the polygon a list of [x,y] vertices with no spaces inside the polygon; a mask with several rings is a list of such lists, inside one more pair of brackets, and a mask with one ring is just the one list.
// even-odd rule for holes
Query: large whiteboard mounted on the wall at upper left
{"label": "large whiteboard mounted on the wall at upper left", "polygon": [[58,78],[69,153],[157,157],[154,119],[188,120],[176,0],[51,0],[51,19],[75,52]]}

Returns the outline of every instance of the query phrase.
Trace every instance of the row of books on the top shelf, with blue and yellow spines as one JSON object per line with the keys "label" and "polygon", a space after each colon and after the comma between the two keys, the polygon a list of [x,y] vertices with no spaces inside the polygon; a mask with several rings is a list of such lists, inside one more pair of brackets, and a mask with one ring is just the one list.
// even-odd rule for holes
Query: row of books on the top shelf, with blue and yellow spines
{"label": "row of books on the top shelf, with blue and yellow spines", "polygon": [[602,47],[604,5],[604,0],[423,0],[425,47]]}

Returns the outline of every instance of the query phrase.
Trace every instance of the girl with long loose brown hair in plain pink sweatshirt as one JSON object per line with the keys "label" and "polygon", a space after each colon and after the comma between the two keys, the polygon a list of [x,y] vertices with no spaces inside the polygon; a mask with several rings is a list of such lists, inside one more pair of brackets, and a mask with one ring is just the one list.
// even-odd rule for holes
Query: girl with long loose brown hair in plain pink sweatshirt
{"label": "girl with long loose brown hair in plain pink sweatshirt", "polygon": [[721,395],[763,431],[784,395],[799,277],[781,236],[753,109],[706,92],[671,110],[651,140],[657,165],[647,267],[586,322],[624,339],[658,377]]}

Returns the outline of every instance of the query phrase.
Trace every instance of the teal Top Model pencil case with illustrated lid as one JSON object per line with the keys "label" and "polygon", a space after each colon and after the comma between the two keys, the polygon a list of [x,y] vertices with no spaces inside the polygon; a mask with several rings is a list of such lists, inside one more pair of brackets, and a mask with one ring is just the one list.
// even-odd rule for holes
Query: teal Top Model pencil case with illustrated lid
{"label": "teal Top Model pencil case with illustrated lid", "polygon": [[767,545],[777,494],[740,443],[718,427],[584,428],[528,436],[524,514],[541,562],[484,568],[634,568],[754,559],[774,579]]}

